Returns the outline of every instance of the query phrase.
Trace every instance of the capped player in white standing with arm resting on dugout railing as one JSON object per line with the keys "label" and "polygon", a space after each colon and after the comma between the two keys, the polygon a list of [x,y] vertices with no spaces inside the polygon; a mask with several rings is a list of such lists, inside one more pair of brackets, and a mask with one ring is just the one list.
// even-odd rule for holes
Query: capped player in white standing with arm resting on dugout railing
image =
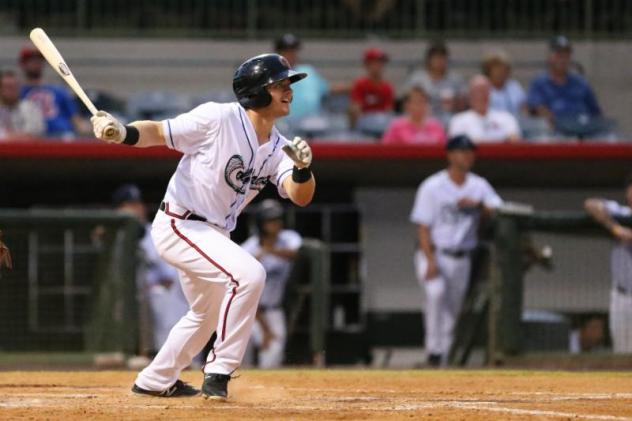
{"label": "capped player in white standing with arm resting on dugout railing", "polygon": [[415,271],[426,296],[425,346],[432,366],[447,362],[481,215],[502,204],[487,180],[470,172],[475,149],[465,135],[448,140],[448,168],[421,183],[410,216],[417,225]]}

